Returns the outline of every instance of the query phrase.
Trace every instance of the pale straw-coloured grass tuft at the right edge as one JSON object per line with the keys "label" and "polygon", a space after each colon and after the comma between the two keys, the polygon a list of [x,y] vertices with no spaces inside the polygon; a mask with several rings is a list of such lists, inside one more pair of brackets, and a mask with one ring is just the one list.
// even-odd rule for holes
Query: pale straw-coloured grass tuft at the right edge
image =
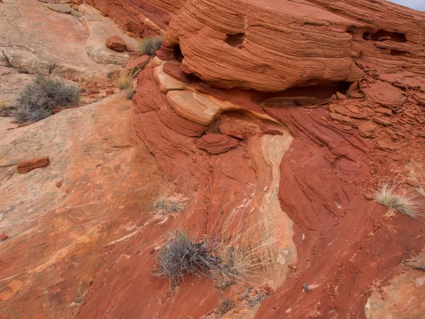
{"label": "pale straw-coloured grass tuft at the right edge", "polygon": [[388,208],[413,218],[425,217],[424,201],[414,189],[403,187],[403,181],[383,183],[375,192],[374,200]]}

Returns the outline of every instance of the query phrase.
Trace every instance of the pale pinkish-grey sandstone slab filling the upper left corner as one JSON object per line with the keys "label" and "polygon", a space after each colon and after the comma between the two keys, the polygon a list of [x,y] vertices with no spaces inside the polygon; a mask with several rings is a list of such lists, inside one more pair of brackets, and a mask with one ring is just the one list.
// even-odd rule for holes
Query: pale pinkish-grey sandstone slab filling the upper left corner
{"label": "pale pinkish-grey sandstone slab filling the upper left corner", "polygon": [[39,1],[2,4],[0,29],[0,65],[4,67],[76,79],[113,69],[99,66],[87,55],[89,33],[77,18],[51,11]]}

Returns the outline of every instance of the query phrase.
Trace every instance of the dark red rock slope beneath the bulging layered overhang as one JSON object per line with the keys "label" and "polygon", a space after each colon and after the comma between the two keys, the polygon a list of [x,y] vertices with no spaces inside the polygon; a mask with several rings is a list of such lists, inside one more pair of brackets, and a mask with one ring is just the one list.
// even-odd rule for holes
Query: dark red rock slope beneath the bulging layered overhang
{"label": "dark red rock slope beneath the bulging layered overhang", "polygon": [[[260,194],[267,189],[271,179],[263,171],[267,164],[263,166],[259,160],[262,157],[266,163],[267,153],[259,153],[261,147],[256,141],[261,136],[288,134],[285,126],[294,140],[280,162],[278,198],[285,212],[280,218],[288,214],[293,220],[292,239],[297,247],[297,258],[288,259],[282,269],[288,269],[288,265],[296,267],[284,276],[282,286],[273,286],[276,292],[263,301],[255,318],[287,318],[288,313],[291,318],[331,318],[335,315],[365,318],[364,306],[371,293],[395,276],[400,262],[409,257],[412,250],[423,247],[420,237],[406,237],[406,233],[420,234],[422,223],[399,214],[388,218],[385,207],[365,198],[365,194],[373,192],[383,177],[395,176],[395,172],[406,174],[404,164],[424,160],[424,147],[420,146],[421,140],[415,138],[414,131],[419,122],[404,112],[392,113],[388,121],[398,133],[395,136],[403,143],[404,150],[384,151],[380,147],[382,143],[397,143],[395,136],[388,135],[387,127],[377,123],[365,131],[371,132],[368,138],[360,134],[364,125],[373,125],[374,109],[380,107],[367,97],[331,99],[324,106],[310,109],[261,109],[256,106],[256,101],[261,100],[258,92],[198,85],[197,89],[203,94],[214,96],[209,98],[210,101],[224,103],[220,107],[229,107],[228,103],[232,103],[235,110],[222,111],[207,128],[199,127],[198,130],[196,126],[191,128],[190,121],[180,117],[186,116],[183,109],[171,112],[172,117],[163,116],[170,108],[166,96],[172,90],[162,92],[157,83],[161,78],[155,79],[154,72],[155,69],[146,69],[138,78],[136,129],[149,151],[154,153],[167,179],[175,180],[183,187],[186,196],[193,199],[177,220],[167,220],[164,227],[151,225],[137,238],[117,248],[118,252],[99,271],[77,318],[94,318],[107,310],[113,317],[145,313],[147,317],[156,314],[162,318],[188,315],[198,318],[213,310],[221,293],[213,288],[212,281],[188,276],[186,284],[170,294],[165,280],[160,281],[137,269],[154,268],[154,256],[148,247],[160,245],[170,229],[184,225],[198,236],[219,231],[222,216],[228,216],[252,186],[255,199],[251,207],[254,206],[256,217],[250,219],[262,220],[264,212],[261,209],[256,211],[255,207],[263,205],[265,199]],[[375,69],[368,71],[370,74],[375,72]],[[366,74],[361,86],[376,81],[375,76]],[[407,97],[417,93],[417,89],[403,91]],[[184,91],[176,94],[184,94]],[[385,99],[385,94],[382,96]],[[185,101],[191,108],[192,100]],[[416,108],[419,106],[408,100],[402,106],[402,110],[416,110],[414,113],[420,118],[423,110]],[[341,121],[330,117],[331,110],[341,116]],[[266,114],[278,123],[264,119]],[[220,132],[243,141],[228,152],[206,156],[196,147],[197,140],[192,138],[205,130],[207,134],[202,138]],[[372,136],[374,138],[370,138]],[[264,150],[272,152],[272,145],[265,147]],[[413,168],[413,171],[418,178],[423,178],[420,167]],[[232,207],[223,208],[226,203],[231,203],[229,206]],[[198,213],[199,209],[202,214]],[[275,219],[276,223],[278,220]],[[290,247],[290,241],[281,245]],[[122,257],[135,256],[138,252],[140,258]],[[303,283],[309,286],[308,293],[302,289]],[[244,288],[243,285],[235,286],[225,296],[236,298]],[[147,298],[148,306],[146,303],[131,308],[123,306],[122,300],[128,300],[136,289],[145,291],[142,293],[145,297],[140,298]],[[187,298],[202,306],[196,309],[179,306]],[[165,301],[167,306],[161,306]]]}

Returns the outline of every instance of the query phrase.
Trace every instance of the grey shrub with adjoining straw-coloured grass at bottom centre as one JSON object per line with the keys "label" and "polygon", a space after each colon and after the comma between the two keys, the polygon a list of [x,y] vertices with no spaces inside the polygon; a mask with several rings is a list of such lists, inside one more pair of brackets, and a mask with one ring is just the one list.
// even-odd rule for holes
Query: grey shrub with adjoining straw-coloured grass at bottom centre
{"label": "grey shrub with adjoining straw-coloured grass at bottom centre", "polygon": [[[171,210],[159,202],[155,201],[156,206],[163,211]],[[220,237],[212,235],[196,242],[183,230],[169,235],[157,254],[156,276],[169,279],[170,286],[179,284],[186,273],[210,276],[223,290],[234,283],[246,284],[261,278],[262,267],[271,264],[265,250],[275,240],[250,242],[255,225],[243,230],[246,225],[241,214],[248,206],[244,201],[229,214]]]}

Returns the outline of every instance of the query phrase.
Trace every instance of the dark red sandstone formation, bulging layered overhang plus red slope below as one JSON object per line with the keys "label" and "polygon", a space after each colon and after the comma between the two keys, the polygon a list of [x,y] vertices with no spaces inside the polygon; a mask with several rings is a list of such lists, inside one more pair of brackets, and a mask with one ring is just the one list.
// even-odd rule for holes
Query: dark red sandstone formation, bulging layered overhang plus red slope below
{"label": "dark red sandstone formation, bulging layered overhang plus red slope below", "polygon": [[[116,317],[199,318],[213,310],[223,295],[212,281],[188,276],[168,292],[166,282],[136,269],[154,267],[152,251],[143,247],[160,245],[166,230],[183,226],[198,237],[219,232],[250,191],[247,220],[293,222],[283,226],[293,235],[270,247],[280,256],[282,276],[274,278],[276,292],[255,318],[373,314],[374,304],[364,310],[373,291],[401,270],[410,274],[401,261],[423,247],[420,236],[407,236],[420,234],[421,223],[399,213],[389,217],[385,207],[368,201],[380,179],[407,174],[409,162],[415,178],[424,180],[423,18],[385,1],[188,2],[159,52],[174,60],[179,45],[180,71],[176,62],[157,60],[158,67],[140,74],[135,125],[167,179],[193,199],[165,229],[152,225],[118,248],[77,318],[106,310]],[[185,81],[181,71],[198,80]],[[219,155],[198,149],[217,133],[239,139],[238,147]],[[266,208],[272,172],[278,174],[278,206]],[[279,247],[288,248],[285,257]],[[136,251],[142,257],[121,257]],[[225,296],[236,298],[244,288],[232,286]],[[133,291],[145,303],[127,308],[120,301]]]}

